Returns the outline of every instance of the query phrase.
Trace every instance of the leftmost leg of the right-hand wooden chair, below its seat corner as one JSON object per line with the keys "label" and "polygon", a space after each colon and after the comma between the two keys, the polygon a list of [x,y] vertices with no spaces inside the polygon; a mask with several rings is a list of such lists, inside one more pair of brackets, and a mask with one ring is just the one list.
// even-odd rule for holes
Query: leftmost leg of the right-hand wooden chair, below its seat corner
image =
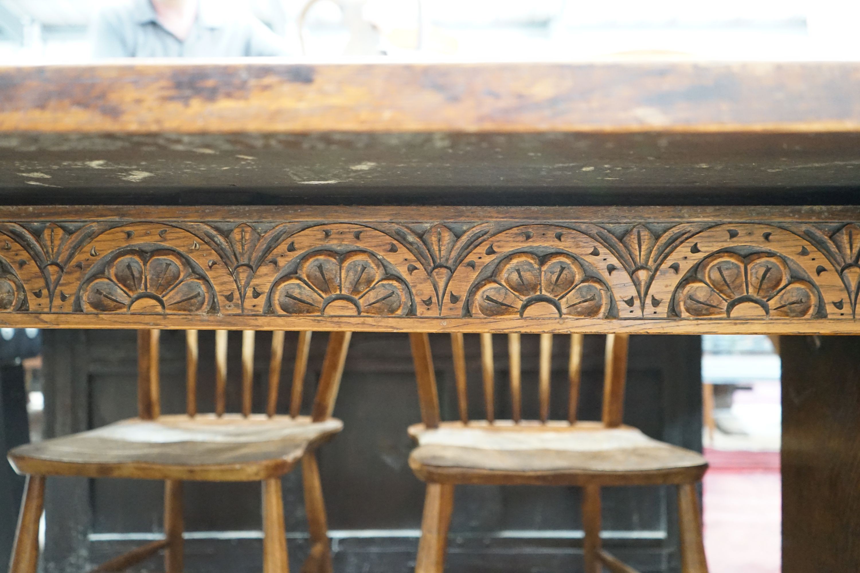
{"label": "leftmost leg of the right-hand wooden chair, below its seat corner", "polygon": [[445,551],[448,547],[448,527],[454,506],[454,486],[427,484],[424,498],[424,517],[421,520],[421,541],[415,573],[442,573],[445,569]]}

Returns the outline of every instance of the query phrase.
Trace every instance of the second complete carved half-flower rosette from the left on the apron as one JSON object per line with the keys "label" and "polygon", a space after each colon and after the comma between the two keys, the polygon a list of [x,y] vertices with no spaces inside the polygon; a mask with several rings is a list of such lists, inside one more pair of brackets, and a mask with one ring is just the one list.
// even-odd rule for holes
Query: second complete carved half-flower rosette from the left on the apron
{"label": "second complete carved half-flower rosette from the left on the apron", "polygon": [[280,278],[271,308],[286,314],[407,316],[415,314],[406,283],[366,251],[308,253],[294,274]]}

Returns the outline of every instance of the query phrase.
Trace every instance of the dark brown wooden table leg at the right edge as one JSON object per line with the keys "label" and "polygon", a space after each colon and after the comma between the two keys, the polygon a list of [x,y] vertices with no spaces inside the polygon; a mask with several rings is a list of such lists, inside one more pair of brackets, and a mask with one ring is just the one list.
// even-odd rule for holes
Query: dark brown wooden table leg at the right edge
{"label": "dark brown wooden table leg at the right edge", "polygon": [[860,570],[860,336],[783,336],[783,573]]}

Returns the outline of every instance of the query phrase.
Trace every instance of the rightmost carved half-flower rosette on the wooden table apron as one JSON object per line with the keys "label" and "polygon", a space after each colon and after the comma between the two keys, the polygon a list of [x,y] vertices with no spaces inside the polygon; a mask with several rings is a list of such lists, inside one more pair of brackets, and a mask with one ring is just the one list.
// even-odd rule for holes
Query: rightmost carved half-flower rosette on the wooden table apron
{"label": "rightmost carved half-flower rosette on the wooden table apron", "polygon": [[675,297],[684,318],[807,318],[818,305],[814,286],[792,277],[785,260],[771,253],[712,254]]}

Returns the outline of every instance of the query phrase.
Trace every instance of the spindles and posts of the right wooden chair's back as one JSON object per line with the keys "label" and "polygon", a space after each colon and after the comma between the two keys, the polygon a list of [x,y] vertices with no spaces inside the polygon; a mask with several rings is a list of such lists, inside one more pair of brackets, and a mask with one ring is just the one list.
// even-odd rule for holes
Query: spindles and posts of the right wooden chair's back
{"label": "spindles and posts of the right wooden chair's back", "polygon": [[[495,380],[494,380],[494,348],[493,334],[482,332],[479,335],[481,346],[481,374],[486,420],[493,424],[496,421],[495,412]],[[537,372],[537,419],[542,424],[550,420],[550,393],[552,378],[552,350],[554,337],[552,334],[540,334]],[[579,407],[583,335],[570,335],[568,357],[568,423],[576,424],[577,408]],[[610,334],[606,337],[604,399],[602,422],[607,428],[615,428],[622,424],[624,418],[624,385],[627,375],[627,334]],[[410,334],[412,353],[415,360],[415,375],[418,381],[418,393],[421,405],[421,418],[427,428],[439,426],[439,393],[436,387],[436,377],[433,370],[433,354],[430,348],[430,338],[427,333]],[[522,395],[522,351],[519,333],[507,335],[508,371],[511,394],[511,418],[514,423],[523,421]],[[451,356],[454,363],[454,379],[457,388],[458,417],[464,424],[469,421],[468,381],[466,375],[466,358],[464,334],[451,334]]]}

